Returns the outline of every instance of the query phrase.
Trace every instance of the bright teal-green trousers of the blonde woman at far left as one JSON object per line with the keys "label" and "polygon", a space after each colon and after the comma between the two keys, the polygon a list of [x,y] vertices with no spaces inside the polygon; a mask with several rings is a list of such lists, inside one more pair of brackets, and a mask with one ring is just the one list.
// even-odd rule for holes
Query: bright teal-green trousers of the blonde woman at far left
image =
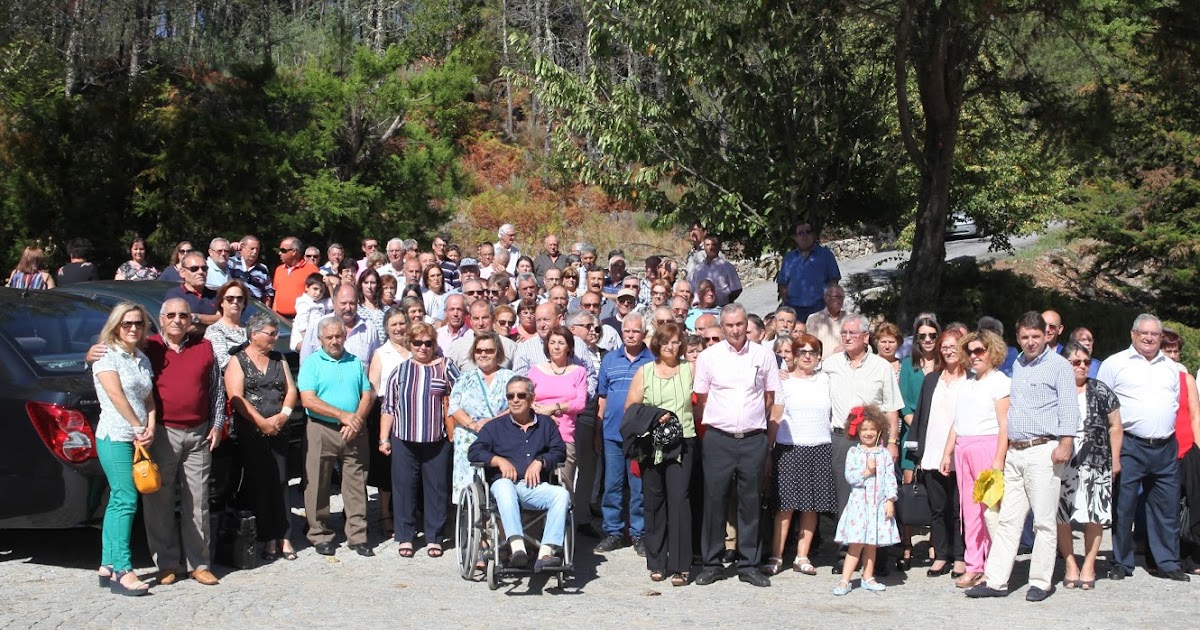
{"label": "bright teal-green trousers of the blonde woman at far left", "polygon": [[130,538],[133,533],[133,516],[138,511],[138,488],[133,485],[133,443],[96,440],[100,466],[108,478],[108,509],[104,510],[104,529],[101,533],[100,564],[114,571],[133,569]]}

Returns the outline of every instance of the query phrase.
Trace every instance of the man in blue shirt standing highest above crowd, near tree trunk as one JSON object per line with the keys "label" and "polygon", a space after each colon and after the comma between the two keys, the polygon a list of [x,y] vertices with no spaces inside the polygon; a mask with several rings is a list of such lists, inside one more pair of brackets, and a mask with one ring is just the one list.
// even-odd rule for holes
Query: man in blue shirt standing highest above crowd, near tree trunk
{"label": "man in blue shirt standing highest above crowd, near tree trunk", "polygon": [[824,308],[824,288],[841,280],[841,270],[833,252],[817,245],[811,223],[798,223],[792,238],[796,248],[784,256],[775,283],[779,284],[780,304],[796,308],[796,320],[804,322]]}

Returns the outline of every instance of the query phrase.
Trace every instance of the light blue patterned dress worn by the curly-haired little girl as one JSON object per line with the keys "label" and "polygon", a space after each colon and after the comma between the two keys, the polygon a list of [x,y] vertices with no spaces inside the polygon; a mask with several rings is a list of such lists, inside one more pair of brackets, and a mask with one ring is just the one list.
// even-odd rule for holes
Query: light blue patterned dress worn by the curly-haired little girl
{"label": "light blue patterned dress worn by the curly-haired little girl", "polygon": [[[875,460],[875,475],[866,479],[866,460]],[[846,481],[850,502],[838,521],[834,540],[841,544],[862,544],[886,547],[900,542],[895,518],[886,515],[888,499],[896,498],[896,470],[887,449],[868,451],[856,444],[846,454]]]}

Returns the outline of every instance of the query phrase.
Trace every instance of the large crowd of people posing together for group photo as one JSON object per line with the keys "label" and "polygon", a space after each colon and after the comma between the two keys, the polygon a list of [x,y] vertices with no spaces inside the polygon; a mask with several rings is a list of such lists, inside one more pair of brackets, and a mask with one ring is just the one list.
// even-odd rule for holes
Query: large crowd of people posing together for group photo
{"label": "large crowd of people posing together for group photo", "polygon": [[[632,547],[652,581],[673,586],[736,575],[767,587],[790,552],[794,571],[816,575],[822,515],[836,523],[835,595],[858,571],[860,588],[884,590],[877,575],[928,563],[970,598],[1002,596],[1019,553],[1032,553],[1028,600],[1055,592],[1056,557],[1063,588],[1091,590],[1105,527],[1111,580],[1133,575],[1139,545],[1154,575],[1198,572],[1200,509],[1181,523],[1181,497],[1200,506],[1200,397],[1181,337],[1156,317],[1138,317],[1129,347],[1103,360],[1091,331],[1063,335],[1054,311],[1015,322],[1015,347],[991,317],[972,329],[920,313],[906,334],[845,310],[838,262],[804,222],[776,278],[780,306],[748,313],[720,238],[698,223],[689,236],[686,257],[647,257],[641,274],[620,251],[605,259],[556,235],[530,257],[508,224],[469,252],[446,236],[380,252],[368,238],[360,259],[334,244],[324,262],[286,238],[274,270],[248,235],[212,239],[208,256],[180,242],[163,272],[132,242],[118,278],[178,286],[160,335],[124,304],[89,352],[112,488],[101,583],[149,589],[128,552],[137,448],[164,479],[145,505],[156,583],[185,570],[217,583],[206,479],[227,426],[263,557],[295,559],[286,460],[300,407],[307,540],[324,556],[337,551],[335,467],[348,548],[374,554],[370,484],[379,529],[410,558],[422,545],[443,554],[476,463],[509,534],[497,542],[535,569],[564,562],[574,505],[596,553]],[[22,265],[18,282],[50,283]],[[275,320],[242,320],[250,298],[293,320],[294,380]],[[548,484],[556,469],[560,486]],[[928,522],[902,521],[913,497]],[[548,511],[540,548],[524,548],[517,506]],[[918,527],[928,558],[913,557]]]}

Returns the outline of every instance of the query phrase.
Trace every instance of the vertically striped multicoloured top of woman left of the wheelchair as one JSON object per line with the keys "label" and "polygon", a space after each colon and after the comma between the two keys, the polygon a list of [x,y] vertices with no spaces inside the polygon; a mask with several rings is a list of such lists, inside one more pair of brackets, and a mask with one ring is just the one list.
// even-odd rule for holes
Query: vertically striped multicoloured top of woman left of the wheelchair
{"label": "vertically striped multicoloured top of woman left of the wheelchair", "polygon": [[445,359],[425,365],[400,364],[384,386],[383,413],[395,418],[392,437],[404,442],[446,439],[445,403],[458,379],[458,367]]}

